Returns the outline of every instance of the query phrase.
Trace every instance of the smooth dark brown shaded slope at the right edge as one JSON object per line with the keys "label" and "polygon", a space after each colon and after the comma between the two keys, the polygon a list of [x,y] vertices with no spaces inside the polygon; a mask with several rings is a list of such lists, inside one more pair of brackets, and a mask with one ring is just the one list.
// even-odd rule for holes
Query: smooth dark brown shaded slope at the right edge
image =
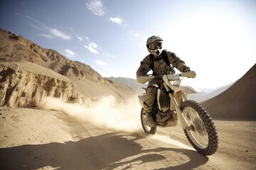
{"label": "smooth dark brown shaded slope at the right edge", "polygon": [[256,64],[223,93],[202,103],[213,118],[256,120]]}

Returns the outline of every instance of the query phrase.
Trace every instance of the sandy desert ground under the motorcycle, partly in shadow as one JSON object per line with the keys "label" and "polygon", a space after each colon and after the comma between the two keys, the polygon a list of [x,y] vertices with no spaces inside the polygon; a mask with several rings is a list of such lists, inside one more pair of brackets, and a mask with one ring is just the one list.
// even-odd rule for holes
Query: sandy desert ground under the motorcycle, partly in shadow
{"label": "sandy desert ground under the motorcycle, partly in shadow", "polygon": [[146,137],[139,111],[120,122],[104,106],[114,119],[106,123],[99,114],[97,124],[97,116],[87,118],[95,110],[61,107],[0,107],[0,169],[256,169],[256,122],[216,120],[219,148],[206,157],[191,148],[180,124]]}

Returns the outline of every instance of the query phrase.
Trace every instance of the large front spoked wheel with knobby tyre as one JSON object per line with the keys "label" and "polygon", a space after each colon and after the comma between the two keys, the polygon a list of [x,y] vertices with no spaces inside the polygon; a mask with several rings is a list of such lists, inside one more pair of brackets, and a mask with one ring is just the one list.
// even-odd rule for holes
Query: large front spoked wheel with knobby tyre
{"label": "large front spoked wheel with knobby tyre", "polygon": [[184,101],[181,110],[188,123],[184,130],[188,141],[201,154],[214,154],[218,148],[218,135],[208,112],[196,101]]}

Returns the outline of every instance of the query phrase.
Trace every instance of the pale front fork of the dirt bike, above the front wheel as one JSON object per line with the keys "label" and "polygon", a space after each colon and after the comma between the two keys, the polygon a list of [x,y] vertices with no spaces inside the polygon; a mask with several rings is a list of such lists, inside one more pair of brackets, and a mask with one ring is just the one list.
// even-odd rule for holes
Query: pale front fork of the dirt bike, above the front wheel
{"label": "pale front fork of the dirt bike, above the front wheel", "polygon": [[[171,91],[169,86],[167,86],[165,83],[164,83],[164,87],[166,88],[167,91]],[[174,108],[176,110],[176,114],[178,115],[178,119],[181,121],[182,128],[183,129],[189,128],[188,123],[187,123],[187,121],[185,119],[185,116],[183,115],[183,113],[181,111],[181,108],[180,108],[180,104],[181,103],[178,104],[178,102],[176,101],[176,98],[174,98],[174,94],[173,93],[169,93],[169,96],[171,98],[171,104],[174,105]],[[188,100],[188,98],[187,98],[187,96],[185,94],[182,94],[180,99],[181,99],[181,101]]]}

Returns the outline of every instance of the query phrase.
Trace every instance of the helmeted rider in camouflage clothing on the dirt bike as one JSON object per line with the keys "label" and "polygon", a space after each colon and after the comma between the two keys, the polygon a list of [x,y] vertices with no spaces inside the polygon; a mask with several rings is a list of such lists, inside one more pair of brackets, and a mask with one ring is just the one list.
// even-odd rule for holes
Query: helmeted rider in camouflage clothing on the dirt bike
{"label": "helmeted rider in camouflage clothing on the dirt bike", "polygon": [[[149,51],[144,60],[142,60],[139,69],[137,70],[138,77],[144,77],[152,70],[155,76],[162,76],[166,74],[168,64],[172,64],[180,72],[190,72],[190,68],[186,66],[174,52],[162,50],[162,41],[159,36],[151,36],[146,40],[146,48]],[[167,61],[166,61],[167,58]],[[168,64],[167,64],[168,63]],[[152,116],[153,105],[156,99],[156,90],[159,88],[159,79],[152,79],[146,87],[146,96],[144,101],[144,115],[146,115],[146,125],[154,128],[156,123]]]}

